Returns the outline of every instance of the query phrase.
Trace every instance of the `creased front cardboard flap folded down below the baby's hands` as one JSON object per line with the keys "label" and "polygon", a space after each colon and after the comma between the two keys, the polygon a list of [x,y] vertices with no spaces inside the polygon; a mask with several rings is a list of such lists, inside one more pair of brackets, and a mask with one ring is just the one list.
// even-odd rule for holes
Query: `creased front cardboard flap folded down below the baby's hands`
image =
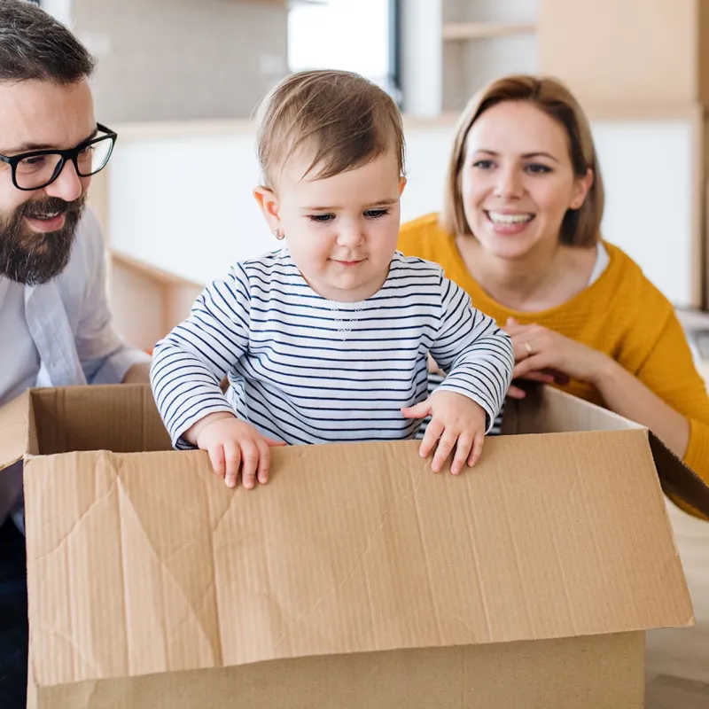
{"label": "creased front cardboard flap folded down below the baby's hands", "polygon": [[456,478],[415,441],[273,456],[252,492],[202,452],[28,461],[35,680],[692,622],[642,429],[490,439]]}

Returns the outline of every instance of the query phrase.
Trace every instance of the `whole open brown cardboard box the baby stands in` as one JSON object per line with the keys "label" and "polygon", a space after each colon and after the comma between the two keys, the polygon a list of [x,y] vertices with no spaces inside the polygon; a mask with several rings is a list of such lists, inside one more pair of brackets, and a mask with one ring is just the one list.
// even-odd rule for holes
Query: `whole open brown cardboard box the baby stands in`
{"label": "whole open brown cardboard box the baby stands in", "polygon": [[416,441],[351,443],[275,449],[268,486],[232,491],[168,451],[144,387],[30,391],[0,409],[30,706],[641,707],[644,631],[693,622],[658,473],[706,488],[550,389],[506,426],[458,477]]}

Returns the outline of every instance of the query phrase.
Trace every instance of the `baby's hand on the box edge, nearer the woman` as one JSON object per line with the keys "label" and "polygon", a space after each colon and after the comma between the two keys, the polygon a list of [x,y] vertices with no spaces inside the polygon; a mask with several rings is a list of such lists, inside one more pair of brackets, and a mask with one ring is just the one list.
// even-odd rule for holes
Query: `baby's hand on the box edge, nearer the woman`
{"label": "baby's hand on the box edge, nearer the woman", "polygon": [[434,472],[440,472],[454,448],[450,464],[454,475],[463,470],[466,461],[471,467],[478,462],[485,441],[486,413],[472,399],[462,393],[438,391],[416,406],[401,409],[401,413],[407,418],[432,417],[418,453],[428,457],[438,441],[431,464]]}

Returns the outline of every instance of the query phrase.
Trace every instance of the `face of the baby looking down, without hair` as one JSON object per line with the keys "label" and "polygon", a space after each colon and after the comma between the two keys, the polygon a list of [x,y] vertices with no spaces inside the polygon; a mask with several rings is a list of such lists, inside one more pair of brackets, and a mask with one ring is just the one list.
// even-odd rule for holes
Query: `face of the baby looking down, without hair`
{"label": "face of the baby looking down, without hair", "polygon": [[324,298],[365,300],[384,284],[399,236],[405,180],[396,155],[387,152],[323,179],[303,177],[308,167],[308,160],[292,160],[278,179],[278,217],[288,251]]}

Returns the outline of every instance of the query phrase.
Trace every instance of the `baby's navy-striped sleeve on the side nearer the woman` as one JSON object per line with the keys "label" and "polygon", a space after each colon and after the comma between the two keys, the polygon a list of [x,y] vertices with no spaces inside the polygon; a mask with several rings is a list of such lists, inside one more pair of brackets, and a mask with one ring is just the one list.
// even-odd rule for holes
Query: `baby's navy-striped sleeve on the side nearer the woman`
{"label": "baby's navy-striped sleeve on the side nearer the woman", "polygon": [[437,391],[462,393],[487,414],[487,432],[510,388],[514,353],[510,336],[473,308],[468,293],[441,276],[441,316],[433,359],[448,376]]}

